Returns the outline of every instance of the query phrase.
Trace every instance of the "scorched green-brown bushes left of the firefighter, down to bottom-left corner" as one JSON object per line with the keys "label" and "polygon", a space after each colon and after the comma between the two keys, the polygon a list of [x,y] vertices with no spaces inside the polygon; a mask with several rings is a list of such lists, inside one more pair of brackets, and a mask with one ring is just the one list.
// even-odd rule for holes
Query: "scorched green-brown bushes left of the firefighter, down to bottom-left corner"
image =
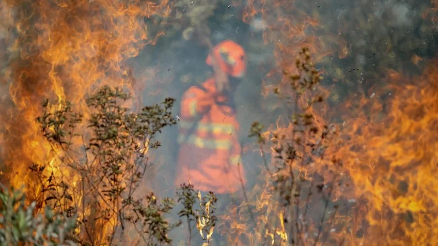
{"label": "scorched green-brown bushes left of the firefighter, down to bottom-left corner", "polygon": [[[119,88],[102,87],[92,95],[88,123],[68,102],[43,104],[37,118],[51,146],[49,163],[33,163],[29,169],[41,187],[26,206],[23,193],[2,189],[1,237],[6,244],[74,243],[115,245],[139,240],[141,245],[172,242],[168,232],[181,222],[169,224],[165,215],[174,207],[170,198],[159,200],[153,192],[141,197],[140,187],[148,171],[148,151],[160,146],[156,133],[175,124],[174,99],[130,112],[123,107],[129,95]],[[82,128],[81,128],[82,127]],[[209,241],[216,221],[210,216],[213,193],[196,198],[192,185],[183,185],[179,213],[196,220],[203,239]],[[44,215],[44,217],[42,217]],[[137,236],[132,236],[132,231]],[[206,236],[204,236],[206,234]],[[64,242],[65,241],[65,242]],[[208,243],[207,243],[208,244]]]}

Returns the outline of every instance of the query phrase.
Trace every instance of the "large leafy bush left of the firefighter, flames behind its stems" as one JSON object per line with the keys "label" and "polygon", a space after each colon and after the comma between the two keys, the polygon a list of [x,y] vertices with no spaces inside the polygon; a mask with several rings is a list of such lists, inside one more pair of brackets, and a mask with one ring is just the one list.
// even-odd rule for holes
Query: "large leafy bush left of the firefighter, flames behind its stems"
{"label": "large leafy bush left of the firefighter, flames behind its stems", "polygon": [[129,98],[104,86],[87,100],[88,117],[68,102],[46,101],[37,119],[54,155],[51,163],[29,167],[42,187],[36,200],[64,218],[78,215],[72,236],[81,244],[122,243],[132,231],[146,245],[171,242],[168,232],[175,225],[164,215],[173,200],[136,191],[149,166],[148,151],[160,146],[155,134],[176,123],[174,99],[135,113],[122,106]]}

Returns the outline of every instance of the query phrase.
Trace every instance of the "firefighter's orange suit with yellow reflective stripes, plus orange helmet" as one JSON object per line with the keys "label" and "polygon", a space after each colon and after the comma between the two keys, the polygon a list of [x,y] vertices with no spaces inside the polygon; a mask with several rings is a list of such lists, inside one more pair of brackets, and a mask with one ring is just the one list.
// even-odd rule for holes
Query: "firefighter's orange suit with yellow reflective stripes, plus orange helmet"
{"label": "firefighter's orange suit with yellow reflective stripes, plus orange helmet", "polygon": [[[216,46],[207,64],[212,65],[212,59],[229,76],[242,77],[245,73],[244,50],[232,41]],[[244,171],[238,165],[239,124],[231,101],[227,93],[218,90],[214,77],[184,93],[176,186],[190,182],[195,189],[224,194],[239,190],[241,181],[245,184]]]}

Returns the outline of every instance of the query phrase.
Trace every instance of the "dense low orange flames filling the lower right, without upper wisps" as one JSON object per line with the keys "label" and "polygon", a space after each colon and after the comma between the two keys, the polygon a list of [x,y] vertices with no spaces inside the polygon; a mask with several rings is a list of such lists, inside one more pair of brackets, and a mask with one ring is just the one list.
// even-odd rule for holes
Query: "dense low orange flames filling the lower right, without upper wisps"
{"label": "dense low orange flames filling the lower right, without upper wisps", "polygon": [[[434,188],[438,185],[437,64],[438,59],[428,61],[422,76],[413,78],[388,71],[387,86],[352,98],[344,108],[331,114],[332,118],[342,117],[343,123],[338,125],[341,138],[329,142],[331,146],[325,155],[335,158],[340,165],[330,166],[328,160],[321,159],[307,167],[295,167],[298,173],[311,178],[312,183],[321,182],[313,173],[324,177],[318,188],[322,192],[309,195],[309,203],[299,207],[299,216],[310,223],[310,230],[298,239],[298,244],[315,242],[319,233],[314,223],[322,226],[318,244],[433,245],[437,242],[438,192]],[[328,122],[328,115],[318,112],[313,108],[315,122],[321,128]],[[290,139],[293,131],[293,125],[277,122],[266,133]],[[269,175],[262,173],[260,178],[264,182],[249,193],[255,202],[241,205],[239,219],[247,225],[252,223],[243,209],[250,205],[257,216],[255,221],[259,222],[256,228],[265,229],[251,230],[248,226],[240,235],[256,238],[250,242],[252,245],[269,240],[275,241],[275,245],[285,245],[291,234],[284,230],[284,214],[278,212],[281,204]],[[331,190],[324,188],[330,184],[334,185]],[[320,202],[321,195],[329,196],[333,205],[320,221],[320,211],[327,208]],[[272,225],[276,226],[266,228]]]}

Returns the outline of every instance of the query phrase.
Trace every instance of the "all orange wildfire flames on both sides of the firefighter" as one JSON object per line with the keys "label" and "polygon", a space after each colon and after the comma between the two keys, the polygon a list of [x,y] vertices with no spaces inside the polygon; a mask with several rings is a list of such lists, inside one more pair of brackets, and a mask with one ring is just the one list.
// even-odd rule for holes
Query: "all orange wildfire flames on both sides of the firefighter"
{"label": "all orange wildfire flames on both sides of the firefighter", "polygon": [[[436,10],[437,1],[432,3],[431,9]],[[8,58],[0,64],[3,181],[26,185],[31,197],[36,198],[42,187],[31,175],[29,166],[47,164],[54,179],[69,177],[71,182],[67,185],[78,190],[78,196],[71,200],[81,207],[80,178],[56,161],[60,151],[45,141],[35,121],[42,112],[40,105],[46,98],[68,100],[87,118],[90,112],[84,98],[101,85],[119,86],[141,97],[136,92],[144,85],[136,82],[127,62],[164,35],[159,28],[152,31],[153,24],[145,19],[170,15],[171,7],[168,0],[0,3],[0,60]],[[426,14],[436,20],[434,13]],[[321,24],[299,11],[295,1],[248,0],[243,21],[263,24],[259,29],[264,31],[264,42],[274,46],[276,69],[264,78],[265,97],[274,90],[296,95],[288,82],[289,74],[297,70],[295,55],[302,47],[309,48],[315,62],[334,53],[344,59],[351,51],[348,42],[339,36],[320,39],[313,35]],[[312,244],[321,239],[319,244],[438,244],[438,59],[426,61],[414,55],[411,60],[418,65],[429,64],[421,76],[404,78],[391,70],[385,78],[389,81],[387,87],[373,88],[351,98],[341,110],[329,113],[326,103],[307,109],[315,131],[336,131],[340,138],[330,139],[329,145],[324,146],[324,158],[319,158],[318,148],[308,156],[298,153],[301,165],[283,170],[275,177],[271,172],[275,160],[266,160],[270,170],[263,169],[260,182],[247,191],[250,200],[221,216],[219,231],[228,233],[230,243],[286,244],[294,233],[303,231],[295,243]],[[156,74],[154,69],[143,73],[145,77]],[[329,96],[329,90],[316,89],[323,98]],[[306,108],[310,96],[303,94],[297,98],[298,107]],[[129,107],[141,104],[138,99]],[[289,103],[287,98],[283,99],[286,101],[274,108]],[[284,119],[279,118],[261,135],[276,144],[287,143],[287,139],[295,136],[297,127],[290,117]],[[333,119],[342,119],[342,123],[328,126]],[[84,129],[85,125],[80,127]],[[306,144],[320,144],[316,138],[306,138],[304,142],[304,150]],[[276,147],[260,145],[255,151],[272,157]],[[297,218],[293,220],[275,195],[277,186],[273,180],[281,175],[295,175],[308,181],[302,185],[302,193],[292,194],[298,199]],[[88,210],[85,215],[90,213]],[[110,218],[111,223],[115,220]],[[291,223],[297,224],[296,231],[288,229]],[[95,243],[103,242],[108,233],[105,226],[99,226],[102,228],[100,234],[96,233]]]}

